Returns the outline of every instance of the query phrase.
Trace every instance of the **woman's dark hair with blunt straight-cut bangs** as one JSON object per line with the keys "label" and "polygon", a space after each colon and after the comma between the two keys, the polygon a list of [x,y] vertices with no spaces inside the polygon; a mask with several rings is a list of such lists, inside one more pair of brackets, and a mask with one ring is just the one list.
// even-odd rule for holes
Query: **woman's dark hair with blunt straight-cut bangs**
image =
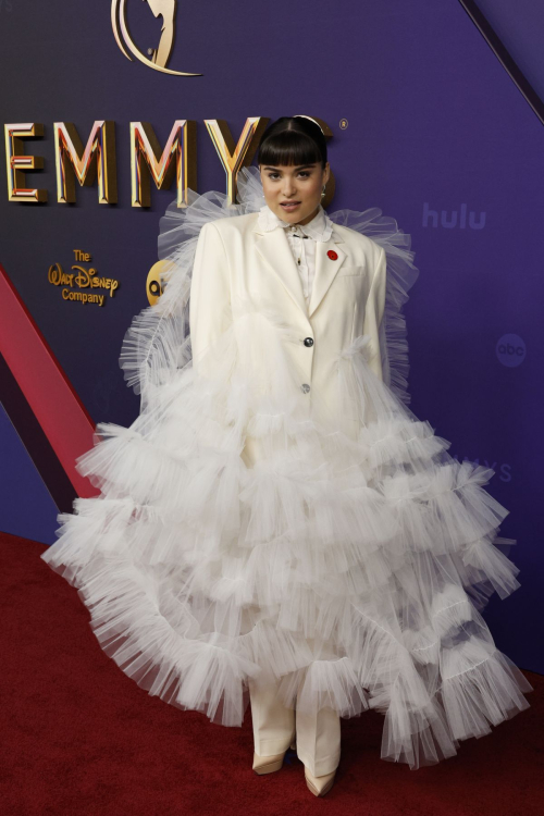
{"label": "woman's dark hair with blunt straight-cut bangs", "polygon": [[326,164],[326,140],[321,127],[306,116],[281,116],[262,134],[257,153],[259,164],[277,166]]}

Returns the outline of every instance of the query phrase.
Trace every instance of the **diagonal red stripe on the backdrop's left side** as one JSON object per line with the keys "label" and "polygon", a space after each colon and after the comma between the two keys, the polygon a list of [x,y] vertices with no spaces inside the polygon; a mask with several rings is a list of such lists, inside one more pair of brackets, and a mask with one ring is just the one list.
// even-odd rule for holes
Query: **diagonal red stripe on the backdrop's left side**
{"label": "diagonal red stripe on the backdrop's left side", "polygon": [[96,425],[1,263],[0,351],[77,495],[97,495],[75,469]]}

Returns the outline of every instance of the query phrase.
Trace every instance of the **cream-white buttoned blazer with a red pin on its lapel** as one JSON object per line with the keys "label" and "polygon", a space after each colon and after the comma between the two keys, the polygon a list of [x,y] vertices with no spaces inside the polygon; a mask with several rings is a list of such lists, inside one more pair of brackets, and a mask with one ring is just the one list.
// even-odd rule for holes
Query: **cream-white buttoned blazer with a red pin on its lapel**
{"label": "cream-white buttoned blazer with a red pin on its lapel", "polygon": [[[237,342],[255,376],[268,376],[270,388],[272,382],[277,385],[265,371],[281,364],[270,358],[275,335],[293,374],[290,382],[305,395],[308,416],[316,403],[339,410],[338,355],[356,337],[369,336],[366,359],[382,379],[378,330],[385,304],[385,251],[366,235],[334,224],[329,240],[317,242],[307,306],[284,230],[260,231],[258,217],[252,212],[220,218],[201,228],[189,300],[194,369],[211,374],[206,353],[214,344],[221,348],[225,331],[239,321],[247,331],[237,333]],[[248,314],[254,320],[248,322]]]}

